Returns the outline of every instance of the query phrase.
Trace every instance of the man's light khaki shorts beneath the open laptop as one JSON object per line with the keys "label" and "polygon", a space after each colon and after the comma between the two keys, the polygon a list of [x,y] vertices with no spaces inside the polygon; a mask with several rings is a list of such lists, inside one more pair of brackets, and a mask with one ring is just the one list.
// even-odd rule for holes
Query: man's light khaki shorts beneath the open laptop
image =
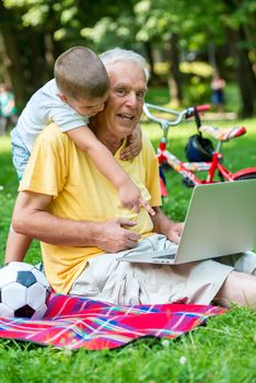
{"label": "man's light khaki shorts beneath the open laptop", "polygon": [[[164,235],[152,235],[139,242],[139,251],[164,249],[171,244]],[[70,294],[117,305],[209,304],[233,269],[252,274],[256,268],[256,254],[251,252],[174,266],[117,262],[125,253],[91,258]]]}

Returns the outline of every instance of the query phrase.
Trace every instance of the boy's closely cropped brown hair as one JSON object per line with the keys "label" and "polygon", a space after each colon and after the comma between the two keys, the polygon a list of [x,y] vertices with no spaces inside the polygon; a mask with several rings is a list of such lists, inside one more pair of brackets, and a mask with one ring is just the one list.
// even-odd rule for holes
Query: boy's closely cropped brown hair
{"label": "boy's closely cropped brown hair", "polygon": [[60,55],[54,73],[60,92],[74,100],[102,97],[109,89],[109,79],[101,59],[83,46],[70,48]]}

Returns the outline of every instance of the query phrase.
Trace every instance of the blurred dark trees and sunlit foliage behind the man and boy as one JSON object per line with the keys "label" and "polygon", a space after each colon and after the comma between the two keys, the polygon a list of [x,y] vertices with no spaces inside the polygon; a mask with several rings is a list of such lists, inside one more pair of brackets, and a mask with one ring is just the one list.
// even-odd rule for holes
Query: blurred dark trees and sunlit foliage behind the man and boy
{"label": "blurred dark trees and sunlit foliage behind the man and boy", "polygon": [[12,86],[20,108],[73,45],[141,53],[151,88],[163,92],[158,102],[173,106],[210,101],[216,67],[229,84],[229,108],[243,117],[255,113],[255,0],[0,2],[0,81]]}

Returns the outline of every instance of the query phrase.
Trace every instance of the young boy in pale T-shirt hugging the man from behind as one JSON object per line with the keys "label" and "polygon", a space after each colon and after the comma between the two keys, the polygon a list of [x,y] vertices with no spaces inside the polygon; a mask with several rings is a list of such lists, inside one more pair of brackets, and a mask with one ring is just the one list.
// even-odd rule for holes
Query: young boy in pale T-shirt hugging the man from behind
{"label": "young boy in pale T-shirt hugging the man from behind", "polygon": [[[36,137],[54,121],[88,152],[102,174],[114,184],[125,208],[139,212],[140,206],[143,206],[153,214],[139,188],[88,127],[89,117],[104,108],[109,92],[108,76],[97,55],[85,47],[73,47],[59,56],[54,71],[55,79],[32,96],[11,132],[13,163],[19,178],[22,178]],[[139,136],[137,131],[133,138],[138,140]],[[31,239],[11,230],[7,255],[22,257],[30,243]]]}

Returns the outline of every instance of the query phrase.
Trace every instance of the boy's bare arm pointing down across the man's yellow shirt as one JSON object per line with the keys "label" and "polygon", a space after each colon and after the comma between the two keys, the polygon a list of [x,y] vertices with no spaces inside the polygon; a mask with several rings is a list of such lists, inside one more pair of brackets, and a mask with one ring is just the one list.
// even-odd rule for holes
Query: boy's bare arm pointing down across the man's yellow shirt
{"label": "boy's bare arm pointing down across the man's yellow shirt", "polygon": [[151,206],[141,197],[140,189],[90,128],[80,127],[67,131],[67,135],[90,155],[100,172],[117,188],[124,207],[139,212],[140,206],[143,206],[150,214],[154,213]]}

